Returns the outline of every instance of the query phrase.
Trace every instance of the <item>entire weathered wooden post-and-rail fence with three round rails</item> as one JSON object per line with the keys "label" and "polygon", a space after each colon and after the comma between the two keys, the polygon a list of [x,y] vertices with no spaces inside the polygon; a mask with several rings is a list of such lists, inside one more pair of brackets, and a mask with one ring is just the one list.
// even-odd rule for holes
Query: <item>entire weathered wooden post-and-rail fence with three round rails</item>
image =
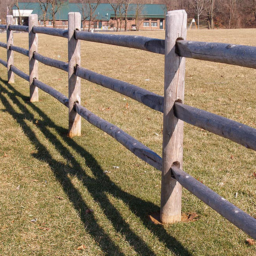
{"label": "entire weathered wooden post-and-rail fence with three round rails", "polygon": [[[172,223],[181,219],[181,188],[212,207],[245,233],[256,239],[256,219],[228,202],[207,186],[182,170],[183,121],[228,138],[247,148],[256,150],[256,129],[183,104],[185,58],[215,61],[256,68],[256,47],[233,44],[186,41],[187,14],[184,10],[170,11],[166,15],[165,40],[142,36],[94,34],[80,31],[80,13],[69,13],[68,30],[38,27],[38,16],[29,16],[29,26],[15,26],[13,16],[7,15],[7,67],[8,81],[14,82],[14,73],[30,84],[30,101],[38,101],[38,88],[47,92],[69,108],[69,137],[80,136],[81,116],[89,123],[111,135],[133,154],[162,171],[160,219]],[[13,30],[29,33],[29,49],[13,45]],[[39,54],[38,33],[68,38],[68,63]],[[80,67],[80,40],[142,49],[165,55],[164,97],[143,88],[100,75]],[[29,75],[14,66],[13,52],[29,57]],[[38,61],[68,72],[69,97],[38,80]],[[98,117],[80,105],[80,78],[110,88],[142,104],[164,113],[162,158],[115,125]]]}

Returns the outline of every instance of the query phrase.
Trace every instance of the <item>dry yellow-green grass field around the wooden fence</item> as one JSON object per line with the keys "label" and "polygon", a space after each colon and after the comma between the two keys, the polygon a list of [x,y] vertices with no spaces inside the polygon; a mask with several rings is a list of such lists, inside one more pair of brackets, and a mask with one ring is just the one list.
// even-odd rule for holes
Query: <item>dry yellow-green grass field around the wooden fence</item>
{"label": "dry yellow-green grass field around the wooden fence", "polygon": [[[256,45],[255,29],[189,30],[187,39]],[[14,44],[28,49],[28,35],[15,33]],[[67,61],[67,40],[40,34],[38,51]],[[15,53],[15,66],[28,73],[28,58]],[[163,95],[162,55],[82,42],[81,66]],[[256,128],[255,77],[254,69],[187,59],[185,103]],[[39,79],[68,94],[64,71],[40,63]],[[67,108],[39,93],[30,103],[28,82],[8,84],[0,66],[0,255],[255,255],[249,236],[185,189],[182,212],[198,220],[152,223],[160,172],[85,120],[82,136],[68,138]],[[85,80],[81,98],[161,155],[161,113]],[[255,152],[188,124],[184,132],[184,170],[256,217]]]}

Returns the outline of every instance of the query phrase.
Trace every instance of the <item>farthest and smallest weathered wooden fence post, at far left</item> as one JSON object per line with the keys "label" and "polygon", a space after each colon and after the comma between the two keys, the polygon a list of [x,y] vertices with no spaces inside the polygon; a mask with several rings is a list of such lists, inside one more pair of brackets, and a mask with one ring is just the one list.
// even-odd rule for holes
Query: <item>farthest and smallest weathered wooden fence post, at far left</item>
{"label": "farthest and smallest weathered wooden fence post, at far left", "polygon": [[11,71],[11,65],[14,65],[14,53],[10,49],[13,45],[13,31],[9,30],[9,25],[13,25],[13,15],[6,16],[6,34],[7,34],[7,77],[9,83],[14,83],[14,73]]}

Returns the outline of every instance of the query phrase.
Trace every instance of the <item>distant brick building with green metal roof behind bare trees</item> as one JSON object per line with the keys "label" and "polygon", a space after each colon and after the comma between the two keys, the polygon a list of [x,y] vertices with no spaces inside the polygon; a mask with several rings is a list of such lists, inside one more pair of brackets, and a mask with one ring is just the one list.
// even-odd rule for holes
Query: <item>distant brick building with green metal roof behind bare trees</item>
{"label": "distant brick building with green metal roof behind bare trees", "polygon": [[[44,25],[43,12],[39,3],[18,3],[19,8],[13,7],[13,16],[15,23],[21,20],[21,23],[27,25],[29,14],[38,14],[39,25]],[[18,11],[19,9],[19,11]],[[55,13],[55,27],[66,28],[69,12],[81,13],[81,27],[88,27],[89,23],[89,6],[82,3],[64,3]],[[121,13],[120,13],[121,12]],[[164,29],[164,19],[166,15],[165,5],[155,4],[130,4],[127,11],[127,29],[128,30],[143,30],[143,29]],[[46,26],[53,26],[53,17],[51,15],[51,5],[48,5],[46,13]],[[117,24],[120,28],[124,28],[124,6],[117,11],[117,18],[115,17],[112,6],[108,3],[102,3],[97,6],[91,18],[92,26],[94,28],[116,28]],[[136,28],[136,29],[134,29]]]}

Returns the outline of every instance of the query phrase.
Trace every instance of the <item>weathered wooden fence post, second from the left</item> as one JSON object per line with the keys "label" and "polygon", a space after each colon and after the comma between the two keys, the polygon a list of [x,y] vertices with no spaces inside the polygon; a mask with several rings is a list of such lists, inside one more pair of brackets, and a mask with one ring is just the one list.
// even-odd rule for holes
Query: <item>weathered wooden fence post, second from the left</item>
{"label": "weathered wooden fence post, second from the left", "polygon": [[33,26],[38,26],[37,14],[30,14],[28,17],[30,102],[38,101],[38,88],[33,84],[34,78],[38,79],[38,61],[33,58],[33,52],[38,51],[38,34],[33,32]]}

